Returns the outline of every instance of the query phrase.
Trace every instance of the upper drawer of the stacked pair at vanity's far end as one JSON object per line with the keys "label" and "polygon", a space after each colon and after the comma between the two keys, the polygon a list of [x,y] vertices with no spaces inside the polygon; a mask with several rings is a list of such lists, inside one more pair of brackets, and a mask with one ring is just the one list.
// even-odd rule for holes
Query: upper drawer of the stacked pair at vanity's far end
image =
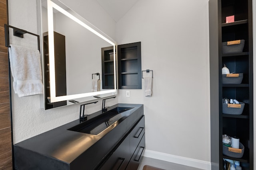
{"label": "upper drawer of the stacked pair at vanity's far end", "polygon": [[143,115],[142,119],[140,119],[138,124],[134,127],[134,129],[130,133],[131,154],[134,153],[144,133],[145,133],[145,116]]}

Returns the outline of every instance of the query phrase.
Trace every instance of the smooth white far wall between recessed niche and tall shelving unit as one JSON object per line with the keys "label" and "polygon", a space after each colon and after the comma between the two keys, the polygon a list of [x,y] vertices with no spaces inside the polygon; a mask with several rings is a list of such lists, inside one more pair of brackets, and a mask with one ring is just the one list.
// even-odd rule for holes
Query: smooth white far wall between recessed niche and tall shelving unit
{"label": "smooth white far wall between recessed niche and tall shelving unit", "polygon": [[144,96],[143,79],[142,90],[130,90],[130,98],[118,90],[119,103],[144,104],[148,153],[199,160],[209,168],[208,23],[208,0],[139,0],[117,22],[116,37],[118,44],[141,41],[142,70],[154,73],[152,97]]}

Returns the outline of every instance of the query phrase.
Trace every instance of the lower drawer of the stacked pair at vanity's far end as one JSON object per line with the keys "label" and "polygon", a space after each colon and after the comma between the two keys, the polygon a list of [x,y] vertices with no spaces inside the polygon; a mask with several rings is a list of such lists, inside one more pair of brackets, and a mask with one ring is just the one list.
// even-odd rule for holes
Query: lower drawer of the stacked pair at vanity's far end
{"label": "lower drawer of the stacked pair at vanity's far end", "polygon": [[145,134],[142,134],[143,137],[138,145],[138,147],[136,148],[134,154],[132,155],[132,158],[128,164],[128,169],[126,170],[136,170],[142,160],[142,153],[145,150]]}

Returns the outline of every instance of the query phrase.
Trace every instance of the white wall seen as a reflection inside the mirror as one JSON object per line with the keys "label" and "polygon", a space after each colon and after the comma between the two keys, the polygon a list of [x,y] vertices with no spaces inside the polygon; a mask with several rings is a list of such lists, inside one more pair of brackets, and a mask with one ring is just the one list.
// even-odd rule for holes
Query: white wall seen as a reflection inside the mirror
{"label": "white wall seen as a reflection inside the mirror", "polygon": [[61,12],[55,14],[54,22],[54,31],[66,39],[67,95],[92,92],[92,74],[102,72],[101,48],[112,45]]}

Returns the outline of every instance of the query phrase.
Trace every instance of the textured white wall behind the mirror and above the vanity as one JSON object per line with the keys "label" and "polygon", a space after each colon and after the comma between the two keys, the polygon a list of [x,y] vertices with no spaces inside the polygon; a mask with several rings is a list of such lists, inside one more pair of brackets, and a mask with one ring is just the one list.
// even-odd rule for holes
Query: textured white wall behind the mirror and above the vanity
{"label": "textured white wall behind the mirror and above the vanity", "polygon": [[[65,1],[68,2],[68,0]],[[98,2],[94,0],[77,1],[78,3],[74,3],[74,0],[72,1],[73,9],[80,10],[80,15],[84,15],[86,20],[112,36],[112,39],[116,38],[116,23],[108,16]],[[8,3],[9,24],[32,33],[37,33],[36,0],[8,0]],[[10,42],[16,45],[37,48],[36,41],[31,41],[27,35],[24,37],[24,39],[18,37],[12,39],[11,37]],[[14,91],[12,90],[12,92]],[[98,101],[100,102],[97,104],[86,106],[86,114],[94,113],[101,109],[102,101]],[[116,103],[117,99],[110,99],[106,101],[106,106]],[[40,109],[39,95],[18,98],[16,94],[12,94],[14,144],[78,119],[79,111],[79,104],[44,111]]]}

